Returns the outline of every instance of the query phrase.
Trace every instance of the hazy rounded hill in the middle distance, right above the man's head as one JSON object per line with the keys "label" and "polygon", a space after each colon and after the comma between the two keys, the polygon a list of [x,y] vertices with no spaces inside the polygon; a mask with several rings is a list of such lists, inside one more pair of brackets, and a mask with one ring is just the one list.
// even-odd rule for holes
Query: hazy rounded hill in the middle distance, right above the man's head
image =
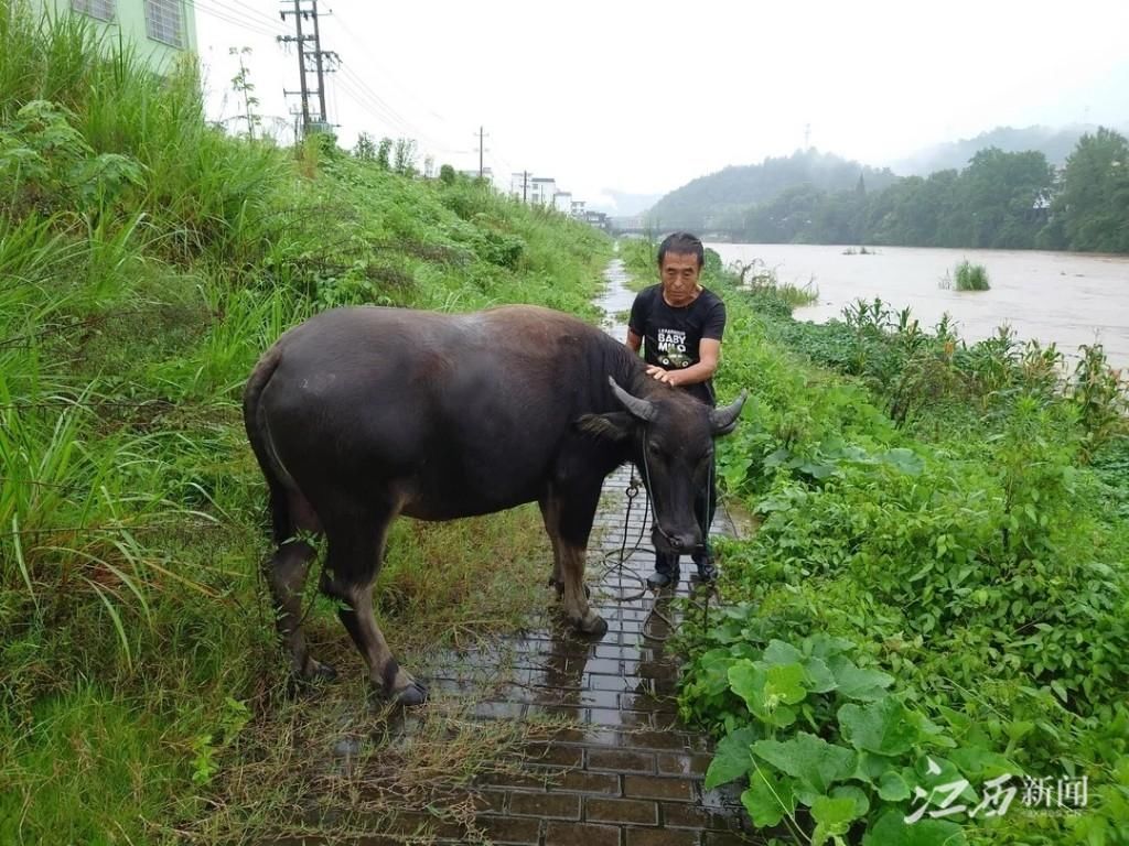
{"label": "hazy rounded hill in the middle distance, right above the man's head", "polygon": [[800,185],[847,191],[857,187],[860,175],[867,191],[885,188],[898,179],[889,168],[878,170],[808,148],[787,157],[767,158],[760,165],[730,166],[700,176],[666,194],[646,217],[665,228],[739,228],[749,206],[768,202],[782,191]]}

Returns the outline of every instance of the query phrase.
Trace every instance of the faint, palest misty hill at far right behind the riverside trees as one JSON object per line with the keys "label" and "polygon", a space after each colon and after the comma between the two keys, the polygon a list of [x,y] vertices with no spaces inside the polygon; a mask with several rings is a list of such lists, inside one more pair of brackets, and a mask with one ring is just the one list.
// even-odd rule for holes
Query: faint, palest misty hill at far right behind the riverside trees
{"label": "faint, palest misty hill at far right behind the riverside trees", "polygon": [[1071,126],[997,126],[988,132],[981,132],[975,138],[964,138],[935,144],[895,162],[892,168],[905,176],[928,176],[937,170],[960,170],[968,166],[969,160],[980,150],[996,147],[1004,152],[1026,152],[1036,150],[1047,160],[1061,167],[1078,143],[1084,133],[1094,133],[1097,126],[1091,124],[1074,124]]}

